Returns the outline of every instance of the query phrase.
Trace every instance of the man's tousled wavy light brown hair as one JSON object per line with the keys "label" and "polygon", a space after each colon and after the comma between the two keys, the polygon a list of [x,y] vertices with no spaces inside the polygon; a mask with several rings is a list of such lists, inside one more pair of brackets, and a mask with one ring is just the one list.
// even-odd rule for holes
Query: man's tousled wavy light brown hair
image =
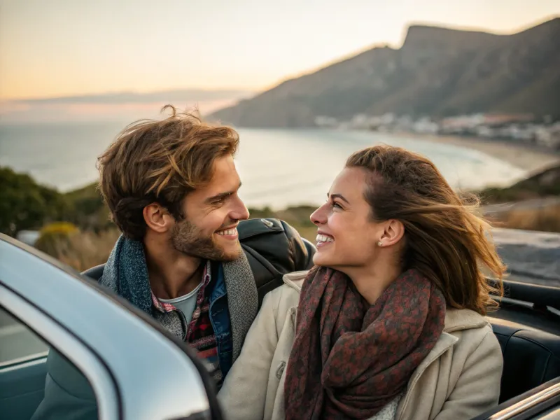
{"label": "man's tousled wavy light brown hair", "polygon": [[158,202],[181,220],[186,195],[211,181],[214,161],[235,155],[239,135],[230,127],[203,123],[190,113],[140,120],[125,127],[99,156],[99,188],[111,218],[126,237],[146,234],[144,207]]}

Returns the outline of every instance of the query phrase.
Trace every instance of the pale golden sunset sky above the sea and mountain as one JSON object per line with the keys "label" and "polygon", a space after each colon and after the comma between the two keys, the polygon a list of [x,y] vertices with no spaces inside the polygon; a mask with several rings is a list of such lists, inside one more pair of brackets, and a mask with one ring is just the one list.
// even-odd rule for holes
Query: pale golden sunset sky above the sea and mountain
{"label": "pale golden sunset sky above the sea and mountain", "polygon": [[177,89],[221,106],[398,48],[411,23],[511,34],[558,15],[559,0],[0,0],[0,115],[27,99]]}

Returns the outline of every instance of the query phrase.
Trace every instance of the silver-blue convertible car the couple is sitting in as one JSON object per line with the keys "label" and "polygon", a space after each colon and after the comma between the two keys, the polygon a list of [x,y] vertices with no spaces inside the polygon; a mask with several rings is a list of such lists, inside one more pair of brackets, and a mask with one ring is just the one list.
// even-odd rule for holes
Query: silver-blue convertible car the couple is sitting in
{"label": "silver-blue convertible car the couple is sitting in", "polygon": [[[50,348],[73,365],[99,419],[223,419],[203,362],[99,286],[102,269],[80,274],[0,235],[1,419],[31,418],[55,380],[45,379]],[[476,419],[560,418],[560,289],[505,281],[505,290],[488,316],[504,356],[500,402]]]}

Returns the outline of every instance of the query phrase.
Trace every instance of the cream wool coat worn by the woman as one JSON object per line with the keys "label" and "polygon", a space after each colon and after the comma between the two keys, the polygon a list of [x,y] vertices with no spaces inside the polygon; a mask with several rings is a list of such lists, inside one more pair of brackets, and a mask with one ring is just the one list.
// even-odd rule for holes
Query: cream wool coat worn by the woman
{"label": "cream wool coat worn by the woman", "polygon": [[[285,419],[286,363],[306,274],[286,274],[283,286],[265,296],[218,393],[226,419]],[[475,311],[447,309],[442,335],[400,399],[372,419],[471,419],[498,404],[502,368],[502,352],[489,322]]]}

